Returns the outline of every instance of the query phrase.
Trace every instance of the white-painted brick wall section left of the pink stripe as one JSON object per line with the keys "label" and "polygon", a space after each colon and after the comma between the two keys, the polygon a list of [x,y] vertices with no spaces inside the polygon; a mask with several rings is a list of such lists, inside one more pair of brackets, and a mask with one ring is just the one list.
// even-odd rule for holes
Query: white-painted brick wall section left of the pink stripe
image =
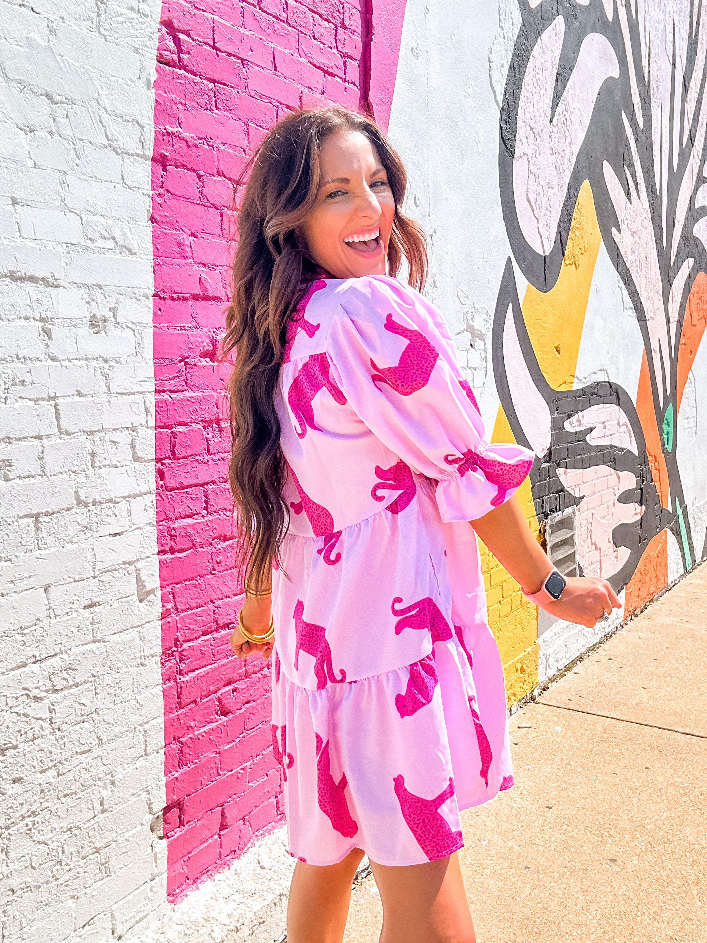
{"label": "white-painted brick wall section left of the pink stripe", "polygon": [[165,906],[158,14],[0,0],[3,943],[130,939]]}

